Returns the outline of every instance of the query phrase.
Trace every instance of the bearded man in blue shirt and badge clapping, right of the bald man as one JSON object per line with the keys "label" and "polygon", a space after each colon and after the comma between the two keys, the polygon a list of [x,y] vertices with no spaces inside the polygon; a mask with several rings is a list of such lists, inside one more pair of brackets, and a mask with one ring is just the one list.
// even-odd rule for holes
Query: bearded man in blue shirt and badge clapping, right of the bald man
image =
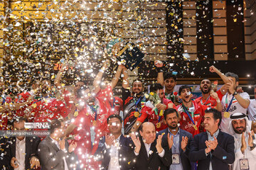
{"label": "bearded man in blue shirt and badge clapping, right of the bald man", "polygon": [[178,112],[174,108],[164,111],[164,122],[168,128],[161,130],[158,135],[164,134],[163,145],[168,145],[172,152],[172,164],[169,170],[191,169],[191,162],[188,159],[188,152],[191,149],[193,140],[192,134],[178,128]]}

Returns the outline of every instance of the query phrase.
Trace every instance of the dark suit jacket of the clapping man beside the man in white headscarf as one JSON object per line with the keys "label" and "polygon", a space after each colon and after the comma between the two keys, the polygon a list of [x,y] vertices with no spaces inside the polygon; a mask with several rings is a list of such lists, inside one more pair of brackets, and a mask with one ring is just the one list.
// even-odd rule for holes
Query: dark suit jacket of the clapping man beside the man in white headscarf
{"label": "dark suit jacket of the clapping man beside the man in white headscarf", "polygon": [[[206,132],[201,132],[200,134],[195,135],[193,138],[189,158],[193,162],[198,161],[198,170],[206,170],[209,169],[210,166],[210,154],[206,156],[205,152],[206,140],[208,140],[208,135]],[[233,164],[235,161],[234,137],[220,131],[217,140],[218,146],[214,151],[211,152],[211,163],[213,170],[228,170],[228,164]]]}

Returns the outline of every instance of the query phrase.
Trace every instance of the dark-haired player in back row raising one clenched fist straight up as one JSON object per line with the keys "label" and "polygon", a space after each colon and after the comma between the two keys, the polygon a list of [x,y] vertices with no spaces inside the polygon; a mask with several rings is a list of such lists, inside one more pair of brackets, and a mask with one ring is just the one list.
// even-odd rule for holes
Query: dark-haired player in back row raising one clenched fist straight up
{"label": "dark-haired player in back row raising one clenched fist straight up", "polygon": [[166,72],[164,74],[164,71],[162,69],[163,62],[156,60],[154,62],[156,69],[158,71],[157,74],[157,83],[164,86],[164,95],[167,99],[171,100],[175,106],[178,106],[180,103],[178,101],[178,93],[174,91],[174,87],[176,86],[176,75],[171,72]]}

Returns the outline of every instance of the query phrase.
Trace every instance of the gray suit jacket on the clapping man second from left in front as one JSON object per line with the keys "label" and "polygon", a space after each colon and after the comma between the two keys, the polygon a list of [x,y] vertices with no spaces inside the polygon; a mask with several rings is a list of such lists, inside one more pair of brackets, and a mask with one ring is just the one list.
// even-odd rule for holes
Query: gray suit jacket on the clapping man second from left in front
{"label": "gray suit jacket on the clapping man second from left in front", "polygon": [[[65,149],[68,151],[68,142],[65,142]],[[50,137],[46,137],[42,142],[38,145],[38,156],[40,159],[40,164],[42,166],[42,170],[48,170],[48,169],[56,169],[56,170],[63,170],[65,169],[64,160],[63,157],[65,157],[65,160],[68,164],[68,167],[70,169],[71,164],[75,164],[75,161],[77,159],[76,155],[71,152],[63,152],[63,150],[58,149],[57,145],[53,143],[53,140],[50,139]],[[68,157],[67,157],[68,156]],[[78,165],[77,165],[78,167]]]}

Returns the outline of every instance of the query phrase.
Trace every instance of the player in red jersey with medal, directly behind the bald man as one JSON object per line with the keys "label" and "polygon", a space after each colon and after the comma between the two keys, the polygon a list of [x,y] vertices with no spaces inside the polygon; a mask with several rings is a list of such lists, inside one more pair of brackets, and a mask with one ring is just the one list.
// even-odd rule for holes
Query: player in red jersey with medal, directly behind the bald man
{"label": "player in red jersey with medal, directly behind the bald man", "polygon": [[[164,87],[161,86],[161,84],[156,83],[151,85],[150,92],[153,92],[154,94],[158,95],[159,98],[161,99],[161,103],[158,103],[154,106],[151,103],[151,101],[147,101],[145,106],[142,108],[142,116],[140,118],[137,118],[137,122],[132,127],[132,130],[136,128],[137,131],[139,126],[146,119],[156,126],[156,132],[159,132],[167,128],[166,123],[164,123],[163,112],[166,110],[166,108],[176,109],[176,106],[174,105],[174,103],[172,103],[171,100],[164,97]],[[156,107],[155,110],[153,110],[154,107]]]}

